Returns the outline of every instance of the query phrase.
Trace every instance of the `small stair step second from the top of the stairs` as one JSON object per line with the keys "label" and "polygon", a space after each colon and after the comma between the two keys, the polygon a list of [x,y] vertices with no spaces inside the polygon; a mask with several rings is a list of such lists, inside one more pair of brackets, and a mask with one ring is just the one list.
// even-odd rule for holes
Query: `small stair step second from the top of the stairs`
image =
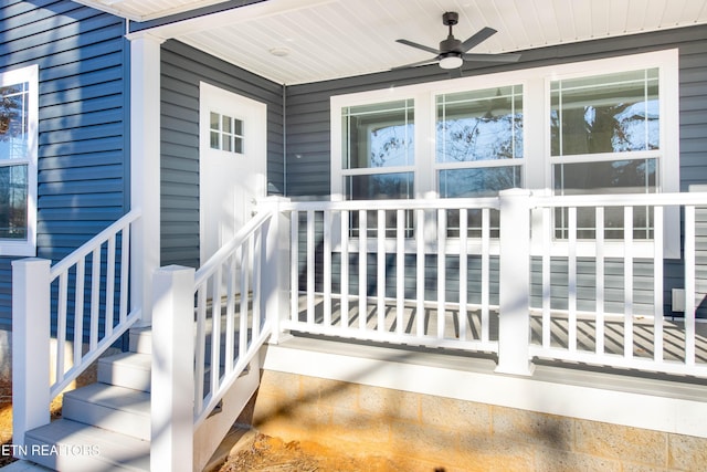
{"label": "small stair step second from the top of the stairs", "polygon": [[98,381],[150,391],[152,358],[149,354],[120,353],[98,360]]}

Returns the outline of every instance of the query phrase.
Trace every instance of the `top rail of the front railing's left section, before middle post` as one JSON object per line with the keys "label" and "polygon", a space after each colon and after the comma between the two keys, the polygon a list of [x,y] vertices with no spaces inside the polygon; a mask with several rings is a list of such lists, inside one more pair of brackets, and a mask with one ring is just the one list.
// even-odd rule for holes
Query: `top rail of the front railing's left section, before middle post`
{"label": "top rail of the front railing's left section, before middle post", "polygon": [[454,210],[468,209],[498,209],[498,197],[481,198],[430,198],[414,200],[318,200],[318,201],[289,201],[279,204],[281,211],[357,211],[357,210]]}

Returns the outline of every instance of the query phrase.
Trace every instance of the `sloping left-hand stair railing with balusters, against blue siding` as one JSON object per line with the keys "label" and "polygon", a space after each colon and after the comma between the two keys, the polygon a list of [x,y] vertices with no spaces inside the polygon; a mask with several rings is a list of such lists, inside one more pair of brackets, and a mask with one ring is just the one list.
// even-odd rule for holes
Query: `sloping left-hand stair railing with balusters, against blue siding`
{"label": "sloping left-hand stair railing with balusters, against blue siding", "polygon": [[[139,312],[128,314],[128,281],[130,273],[130,227],[141,216],[139,209],[131,210],[120,219],[108,225],[66,258],[50,269],[50,283],[59,280],[57,294],[57,327],[56,327],[56,381],[51,386],[50,398],[56,397],[78,375],[81,375],[94,360],[96,360],[113,343],[140,318]],[[122,233],[120,240],[120,287],[118,302],[118,324],[113,325],[115,308],[115,258],[116,239]],[[104,336],[99,338],[99,310],[101,310],[101,252],[106,244],[106,283],[105,283],[105,310],[104,310]],[[86,258],[92,254],[91,276],[91,324],[88,352],[82,354],[83,347],[83,300],[84,274]],[[98,263],[96,264],[96,261]],[[64,373],[64,345],[66,339],[66,298],[68,295],[68,272],[76,268],[75,311],[74,314],[74,361],[73,367]],[[108,319],[110,314],[110,319]]]}

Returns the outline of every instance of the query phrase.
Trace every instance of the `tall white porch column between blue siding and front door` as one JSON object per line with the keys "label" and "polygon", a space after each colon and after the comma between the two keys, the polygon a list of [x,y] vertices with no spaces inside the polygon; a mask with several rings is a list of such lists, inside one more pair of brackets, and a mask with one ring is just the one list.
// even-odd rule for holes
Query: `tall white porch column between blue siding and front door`
{"label": "tall white porch column between blue siding and front door", "polygon": [[130,206],[143,210],[133,230],[131,311],[149,326],[152,273],[160,263],[160,44],[146,33],[130,40]]}

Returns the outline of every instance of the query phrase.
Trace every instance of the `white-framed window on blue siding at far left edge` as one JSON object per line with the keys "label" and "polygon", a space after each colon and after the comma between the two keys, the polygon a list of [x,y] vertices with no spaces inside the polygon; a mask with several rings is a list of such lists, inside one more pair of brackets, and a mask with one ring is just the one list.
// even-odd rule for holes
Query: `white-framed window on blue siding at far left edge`
{"label": "white-framed window on blue siding at far left edge", "polygon": [[0,73],[0,255],[36,253],[38,71]]}

